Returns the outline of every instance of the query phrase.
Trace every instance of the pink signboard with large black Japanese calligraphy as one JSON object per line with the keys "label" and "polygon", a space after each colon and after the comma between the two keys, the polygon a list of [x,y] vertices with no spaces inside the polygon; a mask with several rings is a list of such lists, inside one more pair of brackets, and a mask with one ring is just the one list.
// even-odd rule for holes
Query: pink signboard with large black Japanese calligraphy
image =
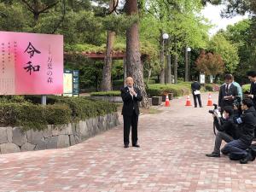
{"label": "pink signboard with large black Japanese calligraphy", "polygon": [[63,93],[63,36],[0,32],[0,95]]}

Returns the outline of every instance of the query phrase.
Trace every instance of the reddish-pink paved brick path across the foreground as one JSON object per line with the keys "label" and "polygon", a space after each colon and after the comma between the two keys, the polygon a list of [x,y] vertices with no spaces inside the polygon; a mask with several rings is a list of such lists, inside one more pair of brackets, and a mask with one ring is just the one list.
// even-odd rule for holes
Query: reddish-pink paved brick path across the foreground
{"label": "reddish-pink paved brick path across the foreground", "polygon": [[256,191],[255,161],[207,158],[214,141],[210,108],[184,102],[140,117],[142,148],[123,148],[119,125],[71,148],[1,154],[0,191]]}

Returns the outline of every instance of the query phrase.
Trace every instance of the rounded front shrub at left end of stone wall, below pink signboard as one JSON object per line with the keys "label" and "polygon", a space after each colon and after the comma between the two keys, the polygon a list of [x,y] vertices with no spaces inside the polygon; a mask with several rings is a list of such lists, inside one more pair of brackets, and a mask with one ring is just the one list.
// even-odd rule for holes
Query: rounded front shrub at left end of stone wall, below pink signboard
{"label": "rounded front shrub at left end of stone wall, below pink signboard", "polygon": [[65,105],[34,105],[30,102],[0,103],[0,125],[23,126],[23,129],[43,130],[47,125],[67,124],[71,109]]}

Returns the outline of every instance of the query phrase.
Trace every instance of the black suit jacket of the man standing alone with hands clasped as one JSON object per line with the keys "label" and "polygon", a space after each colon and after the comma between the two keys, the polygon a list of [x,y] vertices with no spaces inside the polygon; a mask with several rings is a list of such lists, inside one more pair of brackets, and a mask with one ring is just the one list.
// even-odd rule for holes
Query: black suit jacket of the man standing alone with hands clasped
{"label": "black suit jacket of the man standing alone with hands clasped", "polygon": [[138,102],[141,102],[143,100],[143,96],[141,95],[141,91],[137,87],[134,87],[133,89],[137,93],[137,96],[133,96],[133,99],[128,87],[121,89],[121,96],[124,102],[122,114],[124,116],[132,116],[133,109],[135,110],[135,113],[137,113],[137,115],[139,115],[140,113]]}

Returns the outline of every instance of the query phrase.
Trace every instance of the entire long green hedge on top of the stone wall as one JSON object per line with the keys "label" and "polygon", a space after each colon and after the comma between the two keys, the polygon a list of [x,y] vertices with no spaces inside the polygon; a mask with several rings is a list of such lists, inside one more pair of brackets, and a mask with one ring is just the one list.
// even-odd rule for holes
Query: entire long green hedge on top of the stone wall
{"label": "entire long green hedge on top of the stone wall", "polygon": [[[43,130],[47,125],[64,125],[117,111],[111,102],[94,101],[84,97],[49,96],[51,104],[35,104],[38,96],[20,100],[0,97],[0,126],[22,126],[23,129]],[[20,102],[23,101],[23,102]]]}

